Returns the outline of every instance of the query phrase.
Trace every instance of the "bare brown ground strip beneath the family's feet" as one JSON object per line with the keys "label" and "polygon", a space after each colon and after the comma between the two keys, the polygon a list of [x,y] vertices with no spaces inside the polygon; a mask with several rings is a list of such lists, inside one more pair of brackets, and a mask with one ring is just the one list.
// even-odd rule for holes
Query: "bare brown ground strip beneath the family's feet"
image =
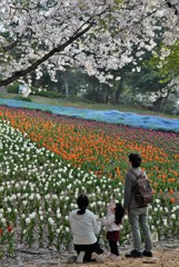
{"label": "bare brown ground strip beneath the family's feet", "polygon": [[[179,240],[158,241],[153,247],[152,258],[126,258],[125,254],[131,249],[131,245],[120,248],[120,257],[117,260],[107,258],[107,251],[101,256],[102,264],[81,264],[81,267],[179,267]],[[56,251],[51,249],[16,251],[16,257],[3,257],[0,267],[77,267],[79,264],[67,264],[67,259],[74,251]]]}

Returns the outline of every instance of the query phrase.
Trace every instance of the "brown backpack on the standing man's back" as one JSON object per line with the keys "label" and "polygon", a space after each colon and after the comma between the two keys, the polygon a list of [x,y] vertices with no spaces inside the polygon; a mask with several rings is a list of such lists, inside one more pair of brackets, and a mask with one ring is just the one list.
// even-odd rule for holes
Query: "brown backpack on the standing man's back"
{"label": "brown backpack on the standing man's back", "polygon": [[147,175],[143,174],[143,171],[141,171],[139,176],[137,176],[132,170],[131,172],[137,177],[132,188],[137,204],[141,207],[151,204],[153,200],[153,190]]}

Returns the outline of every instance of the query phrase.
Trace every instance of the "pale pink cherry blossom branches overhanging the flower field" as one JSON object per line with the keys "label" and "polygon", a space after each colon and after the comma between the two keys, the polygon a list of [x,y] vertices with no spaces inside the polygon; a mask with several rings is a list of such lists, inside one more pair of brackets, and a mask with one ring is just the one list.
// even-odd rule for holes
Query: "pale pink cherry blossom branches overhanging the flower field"
{"label": "pale pink cherry blossom branches overhanging the flower field", "polygon": [[178,38],[178,0],[1,0],[0,87],[30,83],[29,73],[39,79],[43,68],[56,81],[67,67],[111,85],[110,70],[131,62],[137,69],[157,40],[170,53]]}

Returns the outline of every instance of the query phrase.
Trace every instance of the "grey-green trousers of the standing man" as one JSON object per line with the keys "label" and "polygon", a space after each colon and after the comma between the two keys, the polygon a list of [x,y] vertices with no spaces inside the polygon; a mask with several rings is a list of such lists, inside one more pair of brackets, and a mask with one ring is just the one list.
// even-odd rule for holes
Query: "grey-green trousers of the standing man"
{"label": "grey-green trousers of the standing man", "polygon": [[133,247],[136,250],[141,251],[141,236],[140,229],[142,231],[142,237],[145,239],[145,249],[150,251],[152,248],[151,235],[148,225],[148,207],[145,208],[133,208],[129,210],[129,224],[133,237]]}

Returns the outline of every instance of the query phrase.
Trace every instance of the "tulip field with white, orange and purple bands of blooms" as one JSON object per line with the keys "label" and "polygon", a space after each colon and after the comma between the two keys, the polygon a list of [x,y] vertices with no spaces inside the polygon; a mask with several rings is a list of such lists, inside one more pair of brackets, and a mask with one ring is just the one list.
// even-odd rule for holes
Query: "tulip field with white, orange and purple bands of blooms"
{"label": "tulip field with white, orange and purple bands of blooms", "polygon": [[[156,126],[157,127],[157,126]],[[79,194],[105,216],[123,201],[128,155],[142,157],[155,191],[149,224],[160,239],[179,236],[179,134],[0,106],[0,257],[18,247],[71,244],[68,215]],[[121,244],[130,241],[128,218]],[[100,243],[106,245],[105,231]]]}

